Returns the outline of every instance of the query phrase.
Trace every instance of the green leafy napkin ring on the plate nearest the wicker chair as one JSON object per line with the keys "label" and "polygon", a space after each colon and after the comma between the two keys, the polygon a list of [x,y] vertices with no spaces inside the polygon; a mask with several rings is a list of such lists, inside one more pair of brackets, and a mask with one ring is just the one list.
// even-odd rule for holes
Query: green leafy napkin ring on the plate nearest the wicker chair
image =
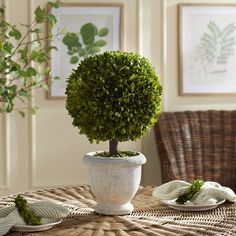
{"label": "green leafy napkin ring on the plate nearest the wicker chair", "polygon": [[176,202],[179,204],[184,204],[187,201],[191,200],[193,196],[199,192],[200,188],[203,186],[204,181],[203,180],[194,180],[191,184],[191,186],[188,188],[188,190],[180,195],[177,199]]}

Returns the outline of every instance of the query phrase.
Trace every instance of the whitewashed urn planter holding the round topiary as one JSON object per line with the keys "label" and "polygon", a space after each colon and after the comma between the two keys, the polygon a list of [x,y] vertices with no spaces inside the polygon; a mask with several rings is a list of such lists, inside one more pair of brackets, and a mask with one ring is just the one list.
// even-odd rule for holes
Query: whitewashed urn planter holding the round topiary
{"label": "whitewashed urn planter holding the round topiary", "polygon": [[96,197],[95,211],[104,215],[126,215],[133,211],[131,199],[140,185],[141,166],[146,163],[142,153],[125,158],[94,156],[87,153],[90,187]]}

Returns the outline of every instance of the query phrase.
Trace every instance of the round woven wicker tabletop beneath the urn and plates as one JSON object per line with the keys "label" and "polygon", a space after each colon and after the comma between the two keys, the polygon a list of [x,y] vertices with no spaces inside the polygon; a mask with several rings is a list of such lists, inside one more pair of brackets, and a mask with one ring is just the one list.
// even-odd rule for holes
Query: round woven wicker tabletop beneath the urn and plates
{"label": "round woven wicker tabletop beneath the urn and plates", "polygon": [[[25,192],[29,202],[53,201],[70,208],[71,214],[53,229],[38,233],[8,235],[146,236],[146,235],[236,235],[236,205],[224,203],[213,210],[186,212],[168,208],[152,197],[153,188],[140,187],[131,215],[102,216],[89,186],[74,186]],[[14,205],[15,195],[0,198],[0,207]],[[1,227],[1,226],[0,226]]]}

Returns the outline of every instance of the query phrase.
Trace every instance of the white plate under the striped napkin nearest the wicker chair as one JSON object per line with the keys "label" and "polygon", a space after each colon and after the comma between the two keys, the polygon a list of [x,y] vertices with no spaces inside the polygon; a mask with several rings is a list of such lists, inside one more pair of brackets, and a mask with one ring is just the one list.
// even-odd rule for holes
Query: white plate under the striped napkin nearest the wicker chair
{"label": "white plate under the striped napkin nearest the wicker chair", "polygon": [[210,209],[214,209],[225,200],[216,202],[216,203],[211,203],[211,204],[206,204],[206,205],[188,205],[188,204],[178,204],[175,202],[175,200],[169,200],[169,201],[163,201],[165,204],[167,204],[169,207],[176,209],[176,210],[181,210],[181,211],[206,211]]}

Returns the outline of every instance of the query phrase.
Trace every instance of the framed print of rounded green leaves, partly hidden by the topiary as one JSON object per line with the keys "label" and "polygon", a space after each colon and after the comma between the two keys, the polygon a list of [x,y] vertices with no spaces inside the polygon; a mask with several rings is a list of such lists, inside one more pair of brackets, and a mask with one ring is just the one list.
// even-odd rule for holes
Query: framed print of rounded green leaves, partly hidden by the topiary
{"label": "framed print of rounded green leaves, partly hidden by the topiary", "polygon": [[[66,80],[79,62],[104,51],[123,50],[124,5],[120,3],[64,3],[53,9],[57,23],[52,36],[50,68],[54,80],[48,99],[65,99]],[[61,33],[63,32],[63,33]]]}

